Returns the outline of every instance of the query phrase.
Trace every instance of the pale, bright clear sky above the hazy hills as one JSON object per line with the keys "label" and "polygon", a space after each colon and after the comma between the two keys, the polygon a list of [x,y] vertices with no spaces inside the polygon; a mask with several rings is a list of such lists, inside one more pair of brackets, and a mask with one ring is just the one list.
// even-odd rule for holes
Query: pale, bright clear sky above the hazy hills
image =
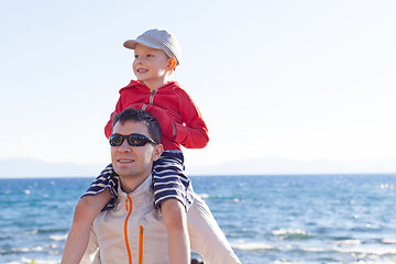
{"label": "pale, bright clear sky above the hazy hills", "polygon": [[122,43],[167,29],[209,129],[190,166],[396,161],[396,1],[0,2],[1,158],[107,164],[134,78]]}

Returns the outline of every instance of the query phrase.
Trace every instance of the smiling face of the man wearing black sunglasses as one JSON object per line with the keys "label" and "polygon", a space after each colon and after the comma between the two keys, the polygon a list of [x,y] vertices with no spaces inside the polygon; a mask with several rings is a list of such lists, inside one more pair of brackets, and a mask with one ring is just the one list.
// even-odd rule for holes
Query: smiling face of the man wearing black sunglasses
{"label": "smiling face of the man wearing black sunglasses", "polygon": [[[113,134],[129,135],[132,133],[143,134],[150,138],[147,127],[142,122],[127,121],[123,124],[117,122]],[[111,161],[113,168],[121,177],[142,179],[146,178],[161,151],[160,145],[146,143],[144,146],[131,146],[127,140],[120,146],[111,146]]]}

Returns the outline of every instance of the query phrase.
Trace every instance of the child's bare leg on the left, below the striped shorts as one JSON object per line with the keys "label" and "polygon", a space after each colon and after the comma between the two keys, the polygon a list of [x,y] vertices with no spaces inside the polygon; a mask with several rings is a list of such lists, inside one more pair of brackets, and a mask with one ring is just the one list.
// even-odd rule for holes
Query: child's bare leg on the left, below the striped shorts
{"label": "child's bare leg on the left, below the striped shorts", "polygon": [[62,255],[62,264],[78,264],[80,262],[88,245],[94,220],[111,198],[109,189],[106,189],[95,196],[85,196],[77,202]]}

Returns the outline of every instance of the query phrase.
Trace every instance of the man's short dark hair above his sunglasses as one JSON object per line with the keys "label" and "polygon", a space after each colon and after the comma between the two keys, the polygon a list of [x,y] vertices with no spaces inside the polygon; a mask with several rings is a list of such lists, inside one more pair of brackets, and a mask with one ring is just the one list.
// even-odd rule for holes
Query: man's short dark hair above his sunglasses
{"label": "man's short dark hair above his sunglasses", "polygon": [[148,112],[143,110],[127,108],[120,114],[113,118],[112,127],[114,128],[117,122],[124,124],[127,121],[142,122],[147,127],[150,136],[156,142],[161,143],[161,127],[158,121]]}

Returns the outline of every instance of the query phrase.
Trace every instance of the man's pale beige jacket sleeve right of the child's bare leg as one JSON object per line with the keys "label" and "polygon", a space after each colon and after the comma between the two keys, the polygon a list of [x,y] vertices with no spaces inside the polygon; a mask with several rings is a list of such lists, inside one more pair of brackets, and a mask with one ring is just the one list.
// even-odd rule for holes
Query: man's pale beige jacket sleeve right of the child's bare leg
{"label": "man's pale beige jacket sleeve right of the child's bare leg", "polygon": [[208,206],[198,195],[195,197],[187,212],[191,249],[202,256],[205,264],[240,264]]}

